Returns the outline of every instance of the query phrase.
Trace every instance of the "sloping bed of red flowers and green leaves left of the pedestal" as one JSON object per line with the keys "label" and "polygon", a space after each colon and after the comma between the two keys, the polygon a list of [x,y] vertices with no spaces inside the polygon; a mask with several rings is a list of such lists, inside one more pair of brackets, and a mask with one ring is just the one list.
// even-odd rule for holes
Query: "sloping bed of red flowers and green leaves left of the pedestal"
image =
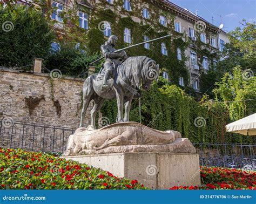
{"label": "sloping bed of red flowers and green leaves left of the pedestal", "polygon": [[0,189],[146,189],[99,168],[41,152],[0,147]]}

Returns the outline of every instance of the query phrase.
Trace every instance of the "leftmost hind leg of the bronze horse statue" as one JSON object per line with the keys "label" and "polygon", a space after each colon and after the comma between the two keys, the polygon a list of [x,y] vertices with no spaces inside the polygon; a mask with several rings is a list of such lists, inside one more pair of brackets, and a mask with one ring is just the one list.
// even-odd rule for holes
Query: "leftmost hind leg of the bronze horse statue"
{"label": "leftmost hind leg of the bronze horse statue", "polygon": [[84,81],[84,86],[83,86],[83,108],[81,112],[81,120],[80,120],[79,127],[84,126],[84,117],[85,117],[86,109],[89,106],[89,103],[91,101],[92,94],[93,94],[92,80],[90,79],[90,77],[88,77]]}

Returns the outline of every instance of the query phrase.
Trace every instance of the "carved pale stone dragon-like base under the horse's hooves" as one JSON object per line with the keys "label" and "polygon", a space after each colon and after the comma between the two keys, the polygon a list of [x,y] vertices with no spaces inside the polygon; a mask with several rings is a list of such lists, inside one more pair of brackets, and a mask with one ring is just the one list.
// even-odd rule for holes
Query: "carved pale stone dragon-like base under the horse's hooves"
{"label": "carved pale stone dragon-like base under the horse's hooves", "polygon": [[154,130],[136,122],[116,123],[93,130],[80,127],[70,135],[64,156],[120,152],[196,153],[177,131]]}

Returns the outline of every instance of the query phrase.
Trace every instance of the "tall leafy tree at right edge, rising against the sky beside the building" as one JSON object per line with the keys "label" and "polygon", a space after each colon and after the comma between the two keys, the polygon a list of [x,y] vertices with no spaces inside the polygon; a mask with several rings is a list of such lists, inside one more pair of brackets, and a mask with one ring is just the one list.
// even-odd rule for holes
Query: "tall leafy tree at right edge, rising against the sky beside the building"
{"label": "tall leafy tree at right edge, rising against the sky beside the building", "polygon": [[213,67],[207,73],[201,73],[200,86],[204,87],[202,92],[214,95],[212,90],[216,87],[215,83],[220,82],[225,76],[225,73],[232,73],[234,67],[239,66],[241,70],[246,70],[245,73],[256,73],[256,29],[255,22],[246,22],[243,20],[241,26],[234,31],[228,33],[230,43],[225,45],[223,53],[221,53],[221,60],[217,67]]}

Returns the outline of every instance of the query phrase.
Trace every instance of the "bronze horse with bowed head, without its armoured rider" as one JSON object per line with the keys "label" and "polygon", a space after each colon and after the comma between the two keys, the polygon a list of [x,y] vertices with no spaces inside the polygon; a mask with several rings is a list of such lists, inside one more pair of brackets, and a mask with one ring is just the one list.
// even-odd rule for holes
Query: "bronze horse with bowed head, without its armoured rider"
{"label": "bronze horse with bowed head, without its armoured rider", "polygon": [[[96,128],[95,117],[105,99],[117,99],[117,123],[129,121],[131,102],[138,93],[141,80],[143,89],[148,90],[152,81],[158,80],[159,73],[159,64],[149,57],[138,56],[129,57],[124,63],[117,66],[113,78],[107,81],[108,90],[102,91],[101,89],[103,78],[100,78],[100,73],[87,77],[83,85],[83,108],[79,127],[84,125],[86,109],[91,100],[94,101],[91,110],[92,128]],[[125,108],[124,117],[123,108]]]}

